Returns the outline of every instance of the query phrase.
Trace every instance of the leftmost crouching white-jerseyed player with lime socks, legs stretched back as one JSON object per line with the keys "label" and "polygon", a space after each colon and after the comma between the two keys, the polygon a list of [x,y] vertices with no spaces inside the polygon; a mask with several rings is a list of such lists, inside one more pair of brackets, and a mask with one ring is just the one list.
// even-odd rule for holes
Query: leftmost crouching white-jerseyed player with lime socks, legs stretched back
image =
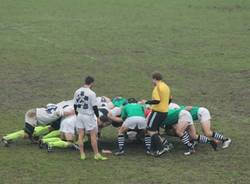
{"label": "leftmost crouching white-jerseyed player with lime socks, legs stretched back", "polygon": [[[57,124],[62,116],[67,116],[67,113],[64,113],[64,107],[71,101],[63,101],[58,104],[48,104],[46,108],[36,108],[30,109],[25,114],[25,126],[23,130],[7,134],[2,138],[2,142],[8,146],[10,142],[29,138],[32,142],[34,141],[34,136],[39,136],[46,131],[49,132],[54,127],[53,125]],[[52,126],[46,126],[52,124]],[[42,125],[44,127],[36,128],[37,125]]]}

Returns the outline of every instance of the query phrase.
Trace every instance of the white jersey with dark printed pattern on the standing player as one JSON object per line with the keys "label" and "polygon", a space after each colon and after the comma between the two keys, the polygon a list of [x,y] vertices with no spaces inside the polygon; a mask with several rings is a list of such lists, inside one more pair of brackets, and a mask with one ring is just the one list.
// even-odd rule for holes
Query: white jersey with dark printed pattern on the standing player
{"label": "white jersey with dark printed pattern on the standing player", "polygon": [[97,106],[96,94],[90,88],[81,87],[74,95],[77,112],[83,115],[94,115],[93,106]]}

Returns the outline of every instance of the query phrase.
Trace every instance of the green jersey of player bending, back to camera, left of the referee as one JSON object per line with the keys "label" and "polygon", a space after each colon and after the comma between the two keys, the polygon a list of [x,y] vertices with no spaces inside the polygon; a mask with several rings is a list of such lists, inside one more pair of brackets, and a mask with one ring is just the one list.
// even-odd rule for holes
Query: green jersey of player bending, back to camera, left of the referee
{"label": "green jersey of player bending, back to camera, left of the referee", "polygon": [[144,108],[141,104],[130,103],[130,104],[125,105],[122,108],[121,117],[123,120],[125,120],[126,118],[129,118],[129,117],[132,117],[132,116],[145,117]]}

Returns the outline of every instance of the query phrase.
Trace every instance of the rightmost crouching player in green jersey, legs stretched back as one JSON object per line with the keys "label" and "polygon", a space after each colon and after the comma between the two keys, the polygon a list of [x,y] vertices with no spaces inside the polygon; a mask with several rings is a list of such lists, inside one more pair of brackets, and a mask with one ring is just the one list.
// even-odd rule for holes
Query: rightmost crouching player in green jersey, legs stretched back
{"label": "rightmost crouching player in green jersey, legs stretched back", "polygon": [[222,143],[222,148],[227,148],[231,144],[231,139],[224,137],[221,133],[211,130],[211,115],[207,108],[198,106],[179,106],[178,104],[171,103],[170,108],[185,108],[188,110],[194,121],[199,121],[202,131],[205,136],[210,137]]}

